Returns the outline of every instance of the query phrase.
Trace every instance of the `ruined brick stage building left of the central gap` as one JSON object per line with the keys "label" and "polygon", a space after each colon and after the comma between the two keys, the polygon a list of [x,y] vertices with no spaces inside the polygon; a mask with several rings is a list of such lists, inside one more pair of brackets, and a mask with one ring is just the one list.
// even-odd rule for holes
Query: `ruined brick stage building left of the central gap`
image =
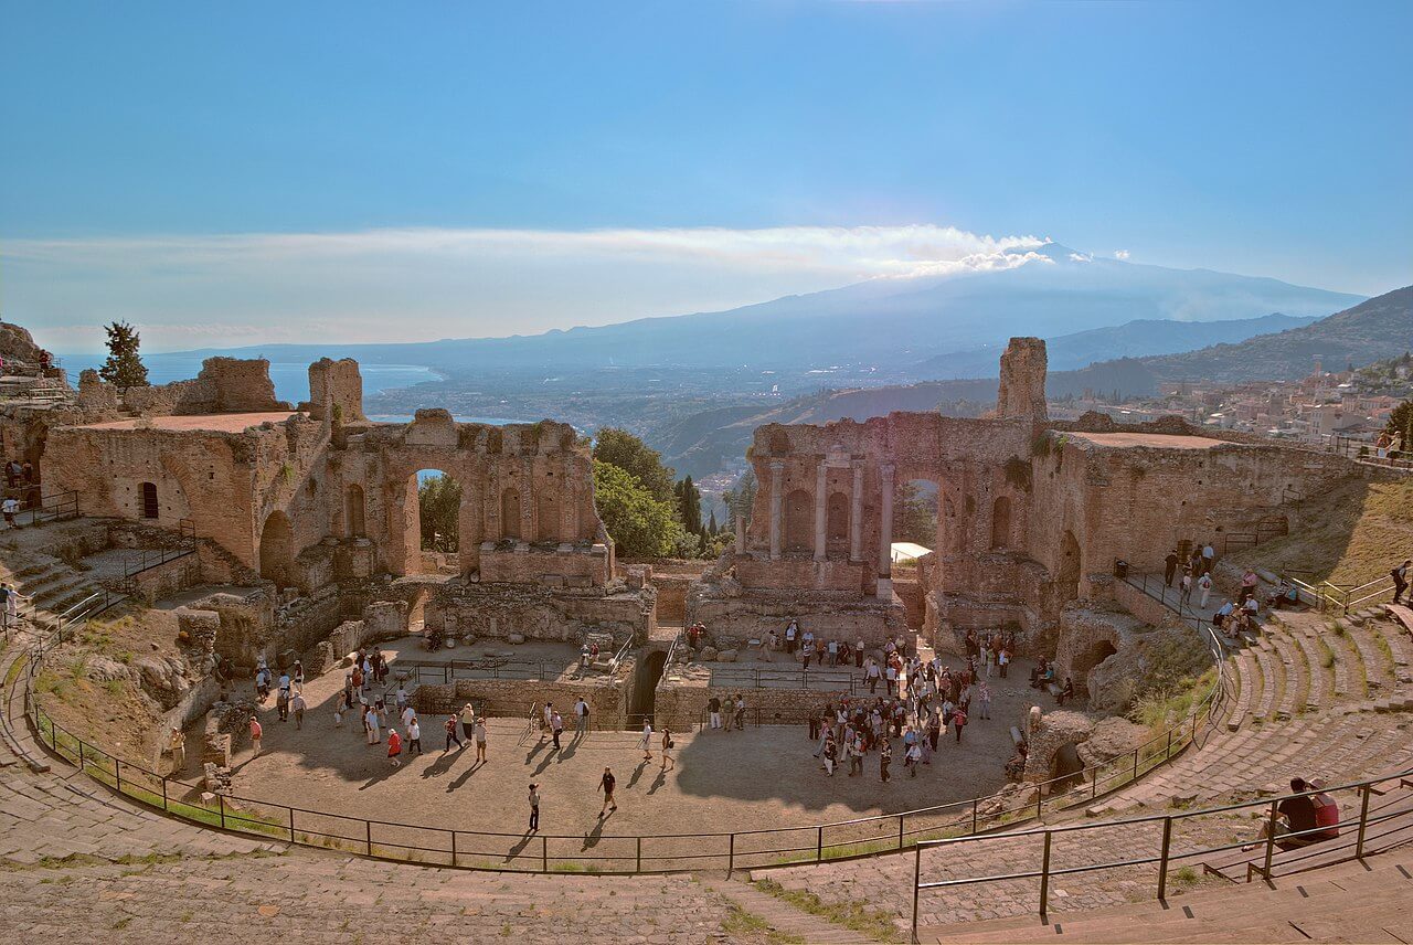
{"label": "ruined brick stage building left of the central gap", "polygon": [[[105,388],[89,383],[88,396]],[[167,393],[154,394],[153,415],[48,431],[47,490],[75,490],[88,516],[194,533],[244,576],[308,596],[339,581],[437,571],[418,517],[418,472],[435,470],[462,490],[451,571],[465,583],[544,592],[500,609],[499,633],[551,620],[650,626],[642,589],[610,595],[592,456],[567,424],[461,424],[445,410],[369,422],[352,360],[311,364],[300,410],[274,400],[266,362],[211,359],[196,380],[154,390]]]}

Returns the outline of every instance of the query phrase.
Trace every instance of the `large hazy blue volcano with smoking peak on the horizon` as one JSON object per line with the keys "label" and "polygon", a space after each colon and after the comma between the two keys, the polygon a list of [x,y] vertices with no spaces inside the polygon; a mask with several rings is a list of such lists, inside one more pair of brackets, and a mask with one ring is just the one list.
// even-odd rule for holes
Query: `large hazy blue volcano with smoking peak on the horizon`
{"label": "large hazy blue volcano with smoking peak on the horizon", "polygon": [[[1135,319],[1225,321],[1270,312],[1320,316],[1359,297],[1270,278],[1087,260],[1043,247],[1043,260],[954,277],[870,280],[725,312],[646,318],[536,336],[413,345],[236,349],[267,356],[350,356],[425,364],[449,376],[582,370],[593,366],[771,367],[834,364],[906,372],[918,360],[1012,335],[1058,336]],[[1082,261],[1077,261],[1077,258]]]}

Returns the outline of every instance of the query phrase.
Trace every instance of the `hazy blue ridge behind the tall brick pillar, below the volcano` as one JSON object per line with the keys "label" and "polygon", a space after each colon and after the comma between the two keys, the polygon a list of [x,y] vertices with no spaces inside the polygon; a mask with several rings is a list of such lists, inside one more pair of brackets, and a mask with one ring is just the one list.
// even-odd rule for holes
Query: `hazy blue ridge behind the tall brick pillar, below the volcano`
{"label": "hazy blue ridge behind the tall brick pillar, below the volcano", "polygon": [[[1094,328],[1074,335],[1046,339],[1053,370],[1085,367],[1113,357],[1142,357],[1171,355],[1210,345],[1243,342],[1256,335],[1283,332],[1317,321],[1293,318],[1280,312],[1260,318],[1239,318],[1226,322],[1177,322],[1136,319],[1113,328]],[[996,376],[1003,343],[968,352],[938,355],[917,364],[924,377],[989,377]]]}

